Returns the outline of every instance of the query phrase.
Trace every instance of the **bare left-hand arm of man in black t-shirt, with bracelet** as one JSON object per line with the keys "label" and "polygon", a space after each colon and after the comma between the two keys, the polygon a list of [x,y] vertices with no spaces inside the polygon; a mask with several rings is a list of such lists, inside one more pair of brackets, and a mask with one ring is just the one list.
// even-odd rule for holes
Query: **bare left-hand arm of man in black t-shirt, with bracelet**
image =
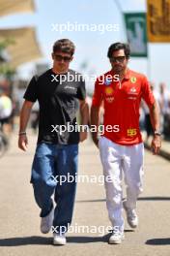
{"label": "bare left-hand arm of man in black t-shirt, with bracelet", "polygon": [[18,147],[24,151],[26,151],[28,144],[28,139],[26,136],[26,127],[28,124],[28,120],[30,118],[30,113],[33,105],[34,102],[25,100],[20,112]]}

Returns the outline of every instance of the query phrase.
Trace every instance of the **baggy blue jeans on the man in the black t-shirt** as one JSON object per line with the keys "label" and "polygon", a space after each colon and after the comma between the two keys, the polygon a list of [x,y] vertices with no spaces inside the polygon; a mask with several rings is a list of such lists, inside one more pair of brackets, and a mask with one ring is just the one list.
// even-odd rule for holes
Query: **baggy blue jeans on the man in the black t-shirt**
{"label": "baggy blue jeans on the man in the black t-shirt", "polygon": [[[38,144],[32,166],[31,183],[34,188],[36,203],[42,209],[40,216],[46,216],[53,201],[54,194],[56,208],[54,211],[53,227],[55,232],[61,231],[62,227],[71,224],[77,173],[78,144]],[[60,177],[71,176],[65,182],[60,182]],[[61,227],[61,228],[60,228]]]}

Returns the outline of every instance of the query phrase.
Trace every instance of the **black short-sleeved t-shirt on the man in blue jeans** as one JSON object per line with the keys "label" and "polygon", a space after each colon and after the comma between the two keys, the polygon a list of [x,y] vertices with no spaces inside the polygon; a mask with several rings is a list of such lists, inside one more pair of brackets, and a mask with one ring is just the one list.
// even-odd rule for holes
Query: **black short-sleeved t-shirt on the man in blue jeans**
{"label": "black short-sleeved t-shirt on the man in blue jeans", "polygon": [[[73,70],[69,70],[64,75],[56,75],[50,69],[40,77],[34,76],[23,96],[27,101],[39,101],[38,143],[79,143],[78,130],[71,131],[72,128],[66,129],[65,127],[68,125],[76,127],[78,100],[84,100],[86,97],[85,82],[82,75]],[[74,79],[71,80],[70,77]],[[62,130],[59,128],[61,125],[63,126]],[[64,131],[65,129],[66,131]]]}

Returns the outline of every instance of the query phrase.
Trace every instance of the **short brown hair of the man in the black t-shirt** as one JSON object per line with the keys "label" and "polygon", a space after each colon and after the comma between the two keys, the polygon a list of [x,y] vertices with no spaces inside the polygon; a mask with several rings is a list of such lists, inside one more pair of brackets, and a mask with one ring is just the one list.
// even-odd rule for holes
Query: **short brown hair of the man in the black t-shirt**
{"label": "short brown hair of the man in the black t-shirt", "polygon": [[56,41],[53,45],[53,52],[63,51],[63,52],[70,53],[71,55],[73,55],[74,50],[75,50],[75,46],[69,39],[60,39],[60,40]]}

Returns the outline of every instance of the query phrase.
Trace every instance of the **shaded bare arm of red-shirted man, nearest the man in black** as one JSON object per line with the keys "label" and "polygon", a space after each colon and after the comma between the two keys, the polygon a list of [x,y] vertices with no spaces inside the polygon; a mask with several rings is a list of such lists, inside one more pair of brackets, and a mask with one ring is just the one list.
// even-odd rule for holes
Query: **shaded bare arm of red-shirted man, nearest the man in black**
{"label": "shaded bare arm of red-shirted man, nearest the man in black", "polygon": [[92,140],[94,144],[99,147],[99,139],[98,139],[98,128],[99,128],[99,107],[92,106],[91,108],[91,125],[95,125],[96,132],[92,132]]}

